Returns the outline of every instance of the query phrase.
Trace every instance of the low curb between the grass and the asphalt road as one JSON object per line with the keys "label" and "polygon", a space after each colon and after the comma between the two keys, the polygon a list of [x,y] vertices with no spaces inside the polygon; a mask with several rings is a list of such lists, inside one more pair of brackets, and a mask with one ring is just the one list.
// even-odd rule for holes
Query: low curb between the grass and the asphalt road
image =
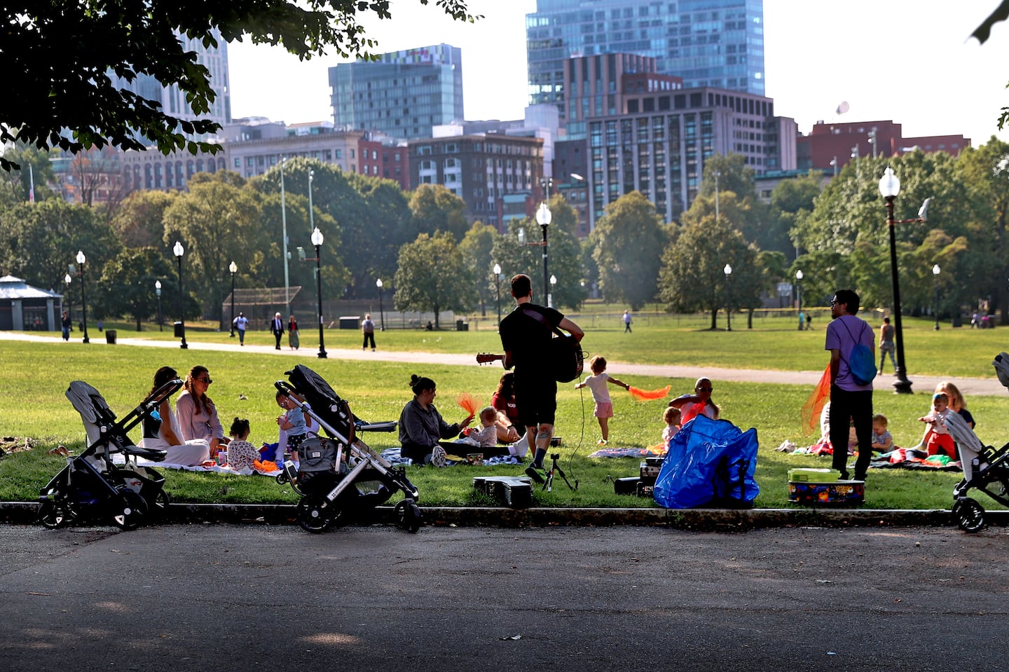
{"label": "low curb between the grass and the asphalt road", "polygon": [[[0,522],[33,524],[38,505],[0,502]],[[948,510],[872,509],[508,509],[422,507],[428,526],[458,527],[668,527],[678,530],[742,531],[775,527],[935,527],[954,525]],[[173,503],[163,523],[293,525],[293,505]],[[366,523],[391,525],[391,507],[378,507]],[[986,511],[985,523],[1009,525],[1009,511]]]}

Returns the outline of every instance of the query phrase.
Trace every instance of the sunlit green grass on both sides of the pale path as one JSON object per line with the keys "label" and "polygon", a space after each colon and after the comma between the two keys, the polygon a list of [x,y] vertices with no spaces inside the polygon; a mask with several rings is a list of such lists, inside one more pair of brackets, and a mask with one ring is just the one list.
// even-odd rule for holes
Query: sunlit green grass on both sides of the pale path
{"label": "sunlit green grass on both sides of the pale path", "polygon": [[[639,314],[634,333],[624,334],[619,312],[600,317],[586,313],[575,319],[585,327],[586,350],[604,354],[610,361],[662,363],[697,366],[768,368],[783,370],[820,370],[825,361],[823,331],[798,332],[790,318],[762,318],[755,329],[746,329],[746,320],[734,319],[734,331],[705,331],[704,316],[674,317]],[[471,331],[386,331],[377,335],[380,349],[475,353],[498,351],[499,341],[492,323],[471,320]],[[915,373],[964,377],[994,377],[992,356],[1002,350],[1002,331],[970,331],[943,328],[931,330],[927,320],[905,322],[908,368]],[[109,325],[119,331],[119,338],[138,334],[131,325]],[[818,327],[825,326],[825,319]],[[109,406],[120,416],[139,402],[150,387],[153,371],[170,364],[180,371],[204,364],[214,378],[210,395],[217,402],[225,424],[235,416],[248,418],[253,442],[275,441],[275,418],[278,409],[273,400],[272,382],[284,378],[284,371],[301,362],[319,371],[333,387],[349,400],[354,412],[366,420],[395,420],[410,399],[410,374],[428,375],[438,382],[436,401],[449,422],[464,413],[455,405],[455,397],[470,393],[489,402],[501,369],[496,366],[447,366],[356,361],[315,357],[318,347],[311,332],[305,331],[300,357],[278,358],[237,347],[234,351],[198,351],[178,348],[134,348],[108,346],[104,336],[89,329],[92,344],[80,343],[80,333],[71,343],[58,335],[51,343],[0,342],[4,373],[0,377],[0,419],[3,436],[28,436],[40,442],[40,448],[15,453],[0,460],[0,499],[30,500],[38,488],[63,464],[63,459],[44,454],[59,444],[71,450],[84,448],[80,417],[64,397],[71,380],[86,380],[97,387]],[[174,340],[170,331],[143,331],[144,338]],[[228,333],[201,330],[194,325],[187,330],[191,343],[234,342]],[[266,332],[250,332],[247,341],[272,344]],[[359,335],[351,330],[328,330],[328,350],[357,349]],[[956,352],[957,356],[950,356]],[[650,376],[622,375],[642,388],[673,385],[673,394],[690,389],[693,381]],[[722,408],[722,417],[742,429],[756,427],[760,440],[757,480],[761,494],[756,505],[762,508],[785,507],[786,472],[795,466],[827,466],[827,460],[774,451],[790,439],[808,445],[815,437],[803,437],[799,431],[799,408],[811,391],[808,386],[715,381],[714,399]],[[888,389],[875,395],[877,412],[886,414],[890,429],[899,445],[914,445],[921,436],[916,419],[928,407],[928,393],[918,389],[913,396],[896,396]],[[639,404],[613,389],[616,417],[610,422],[610,445],[645,447],[658,442],[662,421],[662,402]],[[247,400],[239,400],[244,395]],[[1009,436],[1009,395],[973,397],[968,400],[979,421],[978,434],[987,444],[1002,445]],[[543,506],[574,507],[648,507],[650,499],[613,494],[607,477],[634,476],[636,459],[589,459],[595,449],[598,427],[591,417],[592,402],[587,393],[572,385],[561,385],[558,398],[557,434],[563,438],[559,452],[561,465],[572,480],[578,479],[576,492],[558,482],[553,492],[537,491]],[[134,437],[136,439],[138,437]],[[365,435],[376,450],[397,445],[395,434]],[[471,476],[515,474],[509,467],[456,466],[449,469],[412,467],[411,479],[421,490],[424,505],[475,505],[483,501],[472,489]],[[269,478],[228,476],[217,473],[191,473],[165,470],[166,488],[176,500],[208,502],[290,502],[295,496]],[[873,470],[867,507],[896,509],[948,508],[959,472],[922,472],[908,470]],[[982,495],[983,506],[998,508]]]}

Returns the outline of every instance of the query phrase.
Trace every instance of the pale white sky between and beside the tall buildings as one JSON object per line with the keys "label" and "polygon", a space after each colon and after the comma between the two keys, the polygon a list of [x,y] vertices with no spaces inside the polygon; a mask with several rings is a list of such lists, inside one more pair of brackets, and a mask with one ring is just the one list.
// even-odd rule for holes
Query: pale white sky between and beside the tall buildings
{"label": "pale white sky between and beside the tall buildings", "polygon": [[[997,135],[1009,107],[1009,22],[985,44],[970,37],[999,0],[764,0],[766,95],[808,133],[817,121],[893,120],[905,137]],[[462,49],[468,120],[521,119],[528,104],[525,17],[535,0],[469,0],[476,23],[444,17],[434,2],[393,0],[393,18],[365,22],[378,52],[446,42]],[[332,121],[328,69],[281,47],[228,47],[232,117]],[[849,111],[838,115],[842,102]]]}

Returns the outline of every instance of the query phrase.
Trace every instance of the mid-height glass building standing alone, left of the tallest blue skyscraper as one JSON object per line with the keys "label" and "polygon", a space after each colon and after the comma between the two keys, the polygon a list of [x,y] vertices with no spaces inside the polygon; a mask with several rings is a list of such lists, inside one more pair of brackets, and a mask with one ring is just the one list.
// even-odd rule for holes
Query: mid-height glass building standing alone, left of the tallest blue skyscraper
{"label": "mid-height glass building standing alone, left of the tallest blue skyscraper", "polygon": [[396,138],[431,137],[431,127],[461,120],[462,51],[436,44],[383,53],[329,69],[337,128]]}

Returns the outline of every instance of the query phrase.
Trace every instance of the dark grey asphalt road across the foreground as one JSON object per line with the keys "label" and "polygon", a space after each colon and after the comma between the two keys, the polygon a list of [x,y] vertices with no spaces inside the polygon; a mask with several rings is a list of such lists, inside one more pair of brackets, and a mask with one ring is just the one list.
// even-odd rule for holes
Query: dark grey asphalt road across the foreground
{"label": "dark grey asphalt road across the foreground", "polygon": [[1004,528],[0,526],[7,672],[1001,669]]}

